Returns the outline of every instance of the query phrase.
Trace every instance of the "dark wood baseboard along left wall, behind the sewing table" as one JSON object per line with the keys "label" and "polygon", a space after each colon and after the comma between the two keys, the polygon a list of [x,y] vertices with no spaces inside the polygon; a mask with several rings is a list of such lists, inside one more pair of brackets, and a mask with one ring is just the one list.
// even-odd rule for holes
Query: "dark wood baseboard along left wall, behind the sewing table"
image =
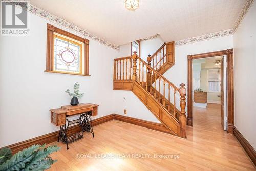
{"label": "dark wood baseboard along left wall, behind the sewing table", "polygon": [[[103,116],[103,117],[100,117],[97,119],[93,119],[92,125],[96,126],[101,123],[108,122],[110,120],[113,120],[113,114],[106,115],[106,116]],[[70,134],[78,132],[79,130],[80,130],[79,125],[71,126],[71,127],[69,127],[67,134],[70,135]],[[32,139],[26,140],[26,141],[8,145],[6,147],[10,148],[12,150],[12,153],[14,154],[14,153],[17,153],[18,151],[20,151],[24,148],[27,148],[31,145],[34,145],[34,144],[49,144],[49,143],[55,142],[58,139],[58,135],[59,135],[59,131],[55,131],[55,132],[52,132],[49,134],[45,134],[45,135],[42,135],[39,137],[35,137]]]}

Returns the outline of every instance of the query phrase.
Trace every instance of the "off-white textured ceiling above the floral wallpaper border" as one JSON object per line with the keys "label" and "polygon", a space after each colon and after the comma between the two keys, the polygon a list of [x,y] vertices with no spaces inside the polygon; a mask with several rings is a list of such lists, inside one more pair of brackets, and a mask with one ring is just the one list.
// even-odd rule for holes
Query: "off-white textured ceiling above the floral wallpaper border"
{"label": "off-white textured ceiling above the floral wallpaper border", "polygon": [[140,0],[136,11],[124,0],[30,0],[115,45],[155,34],[166,42],[230,29],[246,0]]}

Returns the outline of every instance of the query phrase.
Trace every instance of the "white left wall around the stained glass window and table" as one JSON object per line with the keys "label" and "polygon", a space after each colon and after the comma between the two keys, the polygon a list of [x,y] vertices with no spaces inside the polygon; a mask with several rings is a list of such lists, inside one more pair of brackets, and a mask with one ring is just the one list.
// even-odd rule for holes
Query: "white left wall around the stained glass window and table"
{"label": "white left wall around the stained glass window and table", "polygon": [[119,51],[90,40],[91,77],[46,73],[50,22],[32,14],[30,22],[29,36],[0,38],[0,147],[57,131],[49,109],[70,103],[65,90],[75,82],[84,92],[79,102],[99,104],[95,118],[114,111],[113,59],[120,57]]}

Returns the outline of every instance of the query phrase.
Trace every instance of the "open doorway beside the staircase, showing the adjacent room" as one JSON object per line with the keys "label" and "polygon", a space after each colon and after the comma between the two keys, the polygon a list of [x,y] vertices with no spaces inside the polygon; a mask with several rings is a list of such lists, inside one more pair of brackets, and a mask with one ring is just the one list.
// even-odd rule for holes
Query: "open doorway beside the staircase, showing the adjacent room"
{"label": "open doorway beside the staircase, showing the adjacent room", "polygon": [[192,71],[194,114],[227,131],[227,55],[193,59]]}

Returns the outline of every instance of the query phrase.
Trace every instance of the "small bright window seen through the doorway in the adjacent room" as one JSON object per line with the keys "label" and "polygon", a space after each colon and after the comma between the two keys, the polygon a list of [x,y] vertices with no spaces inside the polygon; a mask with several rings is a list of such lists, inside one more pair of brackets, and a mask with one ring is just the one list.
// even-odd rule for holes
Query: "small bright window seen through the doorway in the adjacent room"
{"label": "small bright window seen through the doorway in the adjacent room", "polygon": [[208,92],[220,92],[220,69],[208,70]]}

